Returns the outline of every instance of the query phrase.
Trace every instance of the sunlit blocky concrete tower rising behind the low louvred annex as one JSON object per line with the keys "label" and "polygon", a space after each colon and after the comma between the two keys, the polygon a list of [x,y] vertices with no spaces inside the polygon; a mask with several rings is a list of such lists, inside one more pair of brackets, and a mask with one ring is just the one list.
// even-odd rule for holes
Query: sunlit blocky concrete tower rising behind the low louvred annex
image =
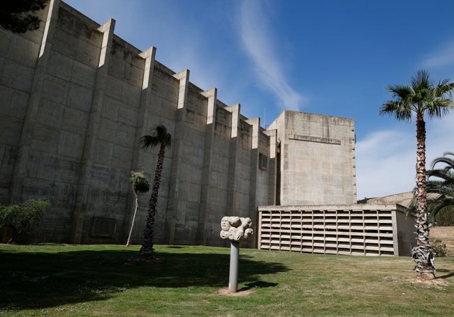
{"label": "sunlit blocky concrete tower rising behind the low louvred annex", "polygon": [[270,125],[280,144],[280,204],[356,202],[351,118],[284,111]]}

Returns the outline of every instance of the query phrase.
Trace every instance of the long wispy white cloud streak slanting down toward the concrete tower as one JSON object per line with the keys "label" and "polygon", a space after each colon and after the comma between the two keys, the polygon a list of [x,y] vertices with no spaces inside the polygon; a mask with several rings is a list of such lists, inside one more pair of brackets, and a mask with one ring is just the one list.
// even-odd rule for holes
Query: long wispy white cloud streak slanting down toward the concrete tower
{"label": "long wispy white cloud streak slanting down toward the concrete tower", "polygon": [[264,12],[263,1],[242,1],[240,6],[240,36],[247,54],[254,63],[256,77],[274,94],[281,109],[300,110],[307,101],[288,83],[272,38],[272,27]]}

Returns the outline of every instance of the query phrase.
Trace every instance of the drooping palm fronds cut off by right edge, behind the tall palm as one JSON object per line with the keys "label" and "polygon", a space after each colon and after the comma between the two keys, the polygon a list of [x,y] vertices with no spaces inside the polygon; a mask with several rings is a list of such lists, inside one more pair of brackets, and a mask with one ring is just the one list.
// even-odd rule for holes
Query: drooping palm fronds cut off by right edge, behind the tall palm
{"label": "drooping palm fronds cut off by right edge, behind the tall palm", "polygon": [[[453,158],[449,156],[453,156]],[[444,164],[441,169],[435,169],[437,164]],[[431,180],[430,178],[436,178]],[[427,171],[427,192],[438,194],[433,199],[432,217],[448,206],[454,206],[454,153],[445,152],[442,157],[432,161],[432,167]]]}

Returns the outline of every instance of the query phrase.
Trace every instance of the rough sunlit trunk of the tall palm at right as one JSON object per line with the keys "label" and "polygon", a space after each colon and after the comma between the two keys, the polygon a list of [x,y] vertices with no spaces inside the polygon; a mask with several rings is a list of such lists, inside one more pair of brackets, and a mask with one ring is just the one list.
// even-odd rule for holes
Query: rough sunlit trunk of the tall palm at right
{"label": "rough sunlit trunk of the tall palm at right", "polygon": [[411,250],[415,270],[423,279],[435,278],[434,254],[430,247],[427,212],[427,192],[425,189],[425,121],[422,116],[416,118],[416,247]]}

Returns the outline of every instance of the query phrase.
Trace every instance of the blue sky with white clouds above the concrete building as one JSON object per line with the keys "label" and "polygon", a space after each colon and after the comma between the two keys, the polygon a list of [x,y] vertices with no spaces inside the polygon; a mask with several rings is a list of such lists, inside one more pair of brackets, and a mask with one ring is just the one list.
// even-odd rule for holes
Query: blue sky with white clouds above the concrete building
{"label": "blue sky with white clouds above the concrete building", "polygon": [[[66,0],[203,90],[269,125],[284,109],[353,118],[358,199],[415,185],[416,130],[379,116],[387,84],[454,80],[451,0]],[[427,167],[454,151],[454,111],[427,118]]]}

